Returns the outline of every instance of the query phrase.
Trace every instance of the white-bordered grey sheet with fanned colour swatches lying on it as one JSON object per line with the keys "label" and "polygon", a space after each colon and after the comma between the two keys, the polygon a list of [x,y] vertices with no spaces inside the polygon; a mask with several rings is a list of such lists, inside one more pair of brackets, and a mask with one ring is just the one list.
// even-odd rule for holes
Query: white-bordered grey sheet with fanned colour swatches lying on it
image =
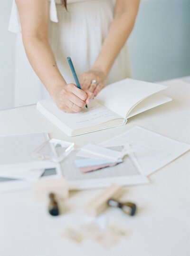
{"label": "white-bordered grey sheet with fanned colour swatches lying on it", "polygon": [[73,150],[61,167],[69,188],[75,190],[107,187],[112,183],[121,186],[149,183],[131,147],[122,141],[113,146],[87,145]]}

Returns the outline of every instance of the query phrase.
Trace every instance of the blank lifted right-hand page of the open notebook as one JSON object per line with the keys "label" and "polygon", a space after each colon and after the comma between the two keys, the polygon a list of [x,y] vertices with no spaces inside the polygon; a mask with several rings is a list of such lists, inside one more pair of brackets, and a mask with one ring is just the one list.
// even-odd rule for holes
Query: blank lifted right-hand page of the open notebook
{"label": "blank lifted right-hand page of the open notebook", "polygon": [[167,86],[124,79],[106,86],[96,97],[96,100],[123,118],[142,99],[166,89]]}

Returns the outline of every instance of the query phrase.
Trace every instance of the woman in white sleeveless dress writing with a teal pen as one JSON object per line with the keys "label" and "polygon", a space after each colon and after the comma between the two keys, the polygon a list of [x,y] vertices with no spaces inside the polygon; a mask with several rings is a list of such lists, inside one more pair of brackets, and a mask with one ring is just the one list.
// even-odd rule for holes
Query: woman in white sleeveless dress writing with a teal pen
{"label": "woman in white sleeveless dress writing with a teal pen", "polygon": [[[76,113],[105,84],[130,77],[124,44],[138,7],[139,0],[67,0],[67,5],[66,0],[14,0],[10,30],[22,31],[17,41],[15,105],[36,103],[47,98],[48,91],[60,109]],[[48,11],[54,22],[49,22]],[[22,40],[39,79],[28,64]],[[73,83],[67,56],[80,75],[82,90]]]}

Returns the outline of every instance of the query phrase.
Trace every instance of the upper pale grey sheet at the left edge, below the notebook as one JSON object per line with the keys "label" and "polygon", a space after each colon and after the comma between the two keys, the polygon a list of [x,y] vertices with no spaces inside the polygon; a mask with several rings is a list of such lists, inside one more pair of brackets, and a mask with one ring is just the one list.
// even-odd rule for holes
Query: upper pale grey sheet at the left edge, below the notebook
{"label": "upper pale grey sheet at the left edge, below the notebook", "polygon": [[48,139],[47,133],[0,136],[0,173],[54,167],[51,161],[38,160],[32,152]]}

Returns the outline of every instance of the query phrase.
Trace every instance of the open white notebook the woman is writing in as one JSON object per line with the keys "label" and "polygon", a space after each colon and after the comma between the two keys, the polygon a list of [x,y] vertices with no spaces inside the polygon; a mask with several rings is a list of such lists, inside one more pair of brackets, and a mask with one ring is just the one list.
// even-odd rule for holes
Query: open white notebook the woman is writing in
{"label": "open white notebook the woman is writing in", "polygon": [[124,125],[127,118],[171,101],[158,93],[167,86],[124,79],[106,86],[80,113],[58,109],[51,99],[38,101],[37,109],[68,136]]}

